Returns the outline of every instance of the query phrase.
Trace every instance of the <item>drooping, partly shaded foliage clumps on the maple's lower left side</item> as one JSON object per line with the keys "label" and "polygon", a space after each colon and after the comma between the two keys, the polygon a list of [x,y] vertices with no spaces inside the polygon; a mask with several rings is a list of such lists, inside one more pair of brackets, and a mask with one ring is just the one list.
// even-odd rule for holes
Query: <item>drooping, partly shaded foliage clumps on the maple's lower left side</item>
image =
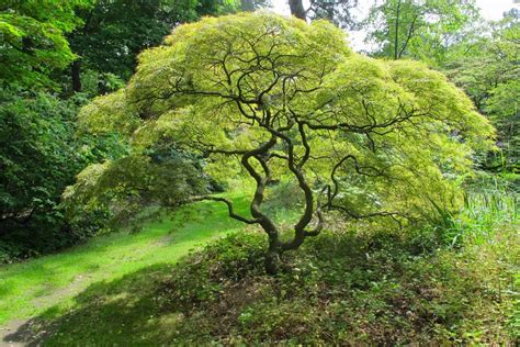
{"label": "drooping, partly shaded foliage clumps on the maple's lower left side", "polygon": [[158,125],[137,116],[136,109],[126,102],[124,89],[95,98],[80,110],[78,119],[81,133],[115,132],[131,141],[133,148],[123,158],[92,165],[78,175],[77,182],[64,193],[71,220],[81,220],[88,211],[109,209],[112,223],[126,224],[144,205],[172,208],[206,192],[208,181],[196,158],[157,136],[147,138]]}

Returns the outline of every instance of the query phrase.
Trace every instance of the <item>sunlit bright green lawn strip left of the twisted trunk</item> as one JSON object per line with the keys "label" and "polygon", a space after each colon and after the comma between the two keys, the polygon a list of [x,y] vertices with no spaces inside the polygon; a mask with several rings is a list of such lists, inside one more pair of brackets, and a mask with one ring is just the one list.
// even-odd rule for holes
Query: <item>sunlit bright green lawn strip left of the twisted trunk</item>
{"label": "sunlit bright green lawn strip left of the twisted trunk", "polygon": [[[246,201],[236,200],[238,211],[247,209]],[[44,312],[54,315],[70,310],[77,304],[75,296],[89,287],[108,286],[158,265],[167,271],[190,249],[241,227],[227,216],[224,204],[200,202],[196,209],[181,209],[138,233],[120,232],[56,255],[0,267],[0,327]]]}

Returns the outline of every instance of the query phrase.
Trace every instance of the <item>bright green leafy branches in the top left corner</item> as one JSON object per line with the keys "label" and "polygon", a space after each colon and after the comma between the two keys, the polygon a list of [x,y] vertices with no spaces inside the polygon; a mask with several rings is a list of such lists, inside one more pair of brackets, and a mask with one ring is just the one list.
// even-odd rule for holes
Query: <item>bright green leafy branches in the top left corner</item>
{"label": "bright green leafy branches in the top left corner", "polygon": [[75,9],[90,0],[8,0],[0,8],[0,82],[42,87],[75,55],[65,34],[81,23]]}

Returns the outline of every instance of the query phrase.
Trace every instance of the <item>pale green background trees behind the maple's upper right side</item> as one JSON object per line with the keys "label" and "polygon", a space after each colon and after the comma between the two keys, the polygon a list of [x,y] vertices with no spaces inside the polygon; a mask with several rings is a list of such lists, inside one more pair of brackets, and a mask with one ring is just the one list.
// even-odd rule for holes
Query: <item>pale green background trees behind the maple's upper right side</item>
{"label": "pale green background trees behind the maple's upper right side", "polygon": [[486,23],[474,1],[376,2],[361,24],[370,54],[422,60],[446,74],[498,131],[498,147],[479,159],[490,170],[518,171],[519,14]]}

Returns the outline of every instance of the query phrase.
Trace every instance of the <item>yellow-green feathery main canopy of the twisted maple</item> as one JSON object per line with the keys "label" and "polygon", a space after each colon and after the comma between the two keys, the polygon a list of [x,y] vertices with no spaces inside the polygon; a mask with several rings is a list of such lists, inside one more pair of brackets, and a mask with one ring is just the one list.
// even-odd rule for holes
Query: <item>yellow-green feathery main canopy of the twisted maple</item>
{"label": "yellow-green feathery main canopy of the twisted maple", "polygon": [[[450,209],[456,177],[493,135],[443,75],[353,54],[327,22],[265,13],[179,26],[166,45],[139,56],[125,91],[101,97],[82,119],[98,131],[133,128],[136,150],[166,141],[206,155],[206,171],[217,177],[238,172],[229,154],[261,146],[275,130],[297,160],[307,143],[301,170],[310,186],[332,183],[337,167],[335,198],[352,215],[417,217],[430,200]],[[283,136],[270,150],[273,179],[291,175]]]}

